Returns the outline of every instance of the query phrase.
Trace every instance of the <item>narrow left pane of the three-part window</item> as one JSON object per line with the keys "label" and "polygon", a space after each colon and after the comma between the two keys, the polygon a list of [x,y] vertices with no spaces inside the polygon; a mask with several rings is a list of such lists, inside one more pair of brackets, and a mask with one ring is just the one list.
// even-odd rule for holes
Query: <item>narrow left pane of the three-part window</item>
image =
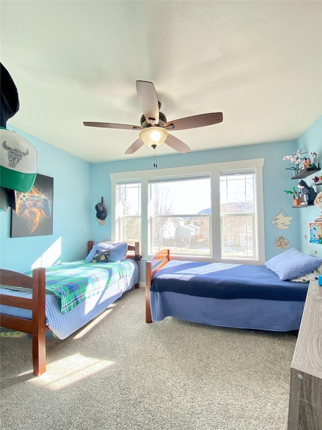
{"label": "narrow left pane of the three-part window", "polygon": [[116,182],[117,240],[134,245],[141,242],[141,184]]}

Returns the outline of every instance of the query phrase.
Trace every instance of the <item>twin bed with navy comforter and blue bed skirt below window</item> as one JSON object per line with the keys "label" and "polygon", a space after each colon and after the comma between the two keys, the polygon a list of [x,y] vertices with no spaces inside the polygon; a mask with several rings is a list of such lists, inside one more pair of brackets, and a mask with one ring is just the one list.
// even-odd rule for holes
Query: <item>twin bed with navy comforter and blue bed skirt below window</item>
{"label": "twin bed with navy comforter and blue bed skirt below window", "polygon": [[282,281],[266,266],[177,261],[163,250],[146,262],[146,322],[175,317],[221,327],[298,330],[307,288],[308,282]]}

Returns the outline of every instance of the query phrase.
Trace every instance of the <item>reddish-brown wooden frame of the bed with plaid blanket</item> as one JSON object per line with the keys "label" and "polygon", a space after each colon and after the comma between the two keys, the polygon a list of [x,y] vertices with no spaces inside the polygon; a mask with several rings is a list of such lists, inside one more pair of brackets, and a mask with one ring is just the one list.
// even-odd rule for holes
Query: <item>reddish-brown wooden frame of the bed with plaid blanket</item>
{"label": "reddish-brown wooden frame of the bed with plaid blanket", "polygon": [[[93,244],[94,241],[89,240],[88,253]],[[126,258],[137,262],[141,259],[139,242],[128,245]],[[0,283],[32,290],[32,298],[0,294],[1,304],[32,311],[32,320],[0,314],[0,326],[32,335],[33,372],[35,376],[40,376],[46,372],[46,331],[50,330],[45,324],[46,269],[43,267],[33,269],[32,277],[23,273],[0,269]],[[134,286],[139,288],[139,283]]]}

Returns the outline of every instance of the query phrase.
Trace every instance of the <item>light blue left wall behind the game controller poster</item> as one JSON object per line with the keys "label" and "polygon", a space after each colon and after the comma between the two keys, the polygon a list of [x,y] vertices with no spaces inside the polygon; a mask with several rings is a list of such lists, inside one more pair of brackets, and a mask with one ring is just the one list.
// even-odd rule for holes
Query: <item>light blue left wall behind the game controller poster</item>
{"label": "light blue left wall behind the game controller poster", "polygon": [[0,267],[27,271],[85,258],[91,239],[91,164],[8,125],[37,149],[38,173],[54,178],[53,234],[10,238],[10,211],[0,211]]}

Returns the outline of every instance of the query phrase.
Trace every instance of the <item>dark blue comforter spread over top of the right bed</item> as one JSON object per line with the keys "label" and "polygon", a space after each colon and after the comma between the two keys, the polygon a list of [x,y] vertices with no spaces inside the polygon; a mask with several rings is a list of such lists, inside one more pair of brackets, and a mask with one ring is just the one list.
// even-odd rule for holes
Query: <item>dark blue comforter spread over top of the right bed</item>
{"label": "dark blue comforter spread over top of the right bed", "polygon": [[224,299],[305,301],[307,288],[308,282],[281,281],[266,266],[171,260],[153,276],[150,291]]}

